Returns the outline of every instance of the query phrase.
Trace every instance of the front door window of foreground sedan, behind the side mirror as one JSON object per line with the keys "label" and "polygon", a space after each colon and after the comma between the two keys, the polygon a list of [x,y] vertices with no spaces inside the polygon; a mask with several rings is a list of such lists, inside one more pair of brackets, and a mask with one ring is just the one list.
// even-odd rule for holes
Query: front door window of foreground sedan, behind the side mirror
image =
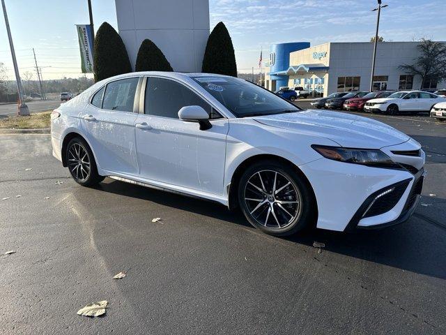
{"label": "front door window of foreground sedan, behind the side mirror", "polygon": [[185,106],[192,105],[203,107],[208,112],[210,119],[222,117],[185,85],[174,80],[147,78],[144,114],[178,119],[178,111]]}

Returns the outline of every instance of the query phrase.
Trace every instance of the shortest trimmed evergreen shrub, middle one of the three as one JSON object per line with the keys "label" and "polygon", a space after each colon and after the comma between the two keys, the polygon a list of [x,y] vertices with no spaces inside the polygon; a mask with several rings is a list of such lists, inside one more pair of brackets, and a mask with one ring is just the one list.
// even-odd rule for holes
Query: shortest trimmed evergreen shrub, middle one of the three
{"label": "shortest trimmed evergreen shrub, middle one of the three", "polygon": [[136,71],[173,71],[159,47],[149,39],[142,41],[138,50]]}

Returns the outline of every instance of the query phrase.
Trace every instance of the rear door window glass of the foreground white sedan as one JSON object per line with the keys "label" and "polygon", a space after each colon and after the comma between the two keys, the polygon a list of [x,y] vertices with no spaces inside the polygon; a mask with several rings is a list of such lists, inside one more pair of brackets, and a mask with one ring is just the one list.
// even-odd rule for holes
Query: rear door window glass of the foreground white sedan
{"label": "rear door window glass of the foreground white sedan", "polygon": [[134,94],[137,91],[138,80],[139,78],[128,78],[107,84],[102,108],[133,112]]}

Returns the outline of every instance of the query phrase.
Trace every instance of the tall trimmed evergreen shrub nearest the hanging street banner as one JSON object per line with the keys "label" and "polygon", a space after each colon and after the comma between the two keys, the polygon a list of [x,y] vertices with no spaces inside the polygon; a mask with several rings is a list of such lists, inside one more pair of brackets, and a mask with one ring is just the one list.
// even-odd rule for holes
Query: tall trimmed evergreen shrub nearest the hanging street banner
{"label": "tall trimmed evergreen shrub nearest the hanging street banner", "polygon": [[107,22],[101,24],[95,36],[93,72],[95,82],[132,72],[123,40]]}

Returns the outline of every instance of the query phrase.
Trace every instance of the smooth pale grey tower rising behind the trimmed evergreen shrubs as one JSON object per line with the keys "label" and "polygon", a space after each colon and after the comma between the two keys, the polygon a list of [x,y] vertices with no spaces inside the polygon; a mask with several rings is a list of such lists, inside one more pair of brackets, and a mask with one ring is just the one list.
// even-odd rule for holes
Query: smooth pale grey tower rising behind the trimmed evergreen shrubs
{"label": "smooth pale grey tower rising behind the trimmed evergreen shrubs", "polygon": [[201,72],[209,37],[208,0],[115,0],[119,35],[132,68],[149,38],[174,70]]}

